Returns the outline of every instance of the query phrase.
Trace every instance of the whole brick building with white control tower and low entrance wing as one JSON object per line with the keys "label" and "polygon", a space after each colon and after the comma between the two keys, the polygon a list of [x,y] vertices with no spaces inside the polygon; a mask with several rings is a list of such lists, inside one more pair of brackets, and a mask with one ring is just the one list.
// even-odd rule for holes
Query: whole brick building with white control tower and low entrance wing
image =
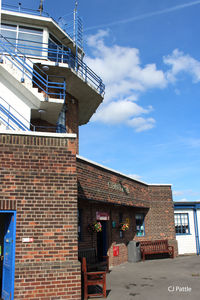
{"label": "whole brick building with white control tower and low entrance wing", "polygon": [[[78,156],[78,128],[103,101],[72,36],[43,11],[3,4],[0,39],[0,293],[81,298],[78,248],[127,260],[127,243],[176,247],[170,185],[148,185]],[[77,26],[77,24],[79,26]],[[101,233],[88,230],[100,221]],[[119,224],[129,230],[119,230]],[[119,250],[119,251],[118,251]],[[113,253],[115,252],[115,255]]]}

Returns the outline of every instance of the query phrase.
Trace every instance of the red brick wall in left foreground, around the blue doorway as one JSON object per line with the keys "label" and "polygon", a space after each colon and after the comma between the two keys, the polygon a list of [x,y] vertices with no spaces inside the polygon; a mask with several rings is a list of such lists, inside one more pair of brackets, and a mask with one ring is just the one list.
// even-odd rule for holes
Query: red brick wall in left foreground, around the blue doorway
{"label": "red brick wall in left foreground, around the blue doorway", "polygon": [[73,139],[0,135],[0,209],[17,211],[16,300],[80,300],[75,154]]}

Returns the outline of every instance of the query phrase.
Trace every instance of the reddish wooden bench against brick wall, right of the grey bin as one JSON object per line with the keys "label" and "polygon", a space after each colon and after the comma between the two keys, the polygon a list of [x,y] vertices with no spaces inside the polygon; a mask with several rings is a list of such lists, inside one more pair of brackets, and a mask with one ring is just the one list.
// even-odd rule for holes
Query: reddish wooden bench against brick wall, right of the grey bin
{"label": "reddish wooden bench against brick wall, right of the grey bin", "polygon": [[147,254],[168,253],[174,258],[174,247],[168,245],[168,240],[141,241],[140,248],[143,261]]}

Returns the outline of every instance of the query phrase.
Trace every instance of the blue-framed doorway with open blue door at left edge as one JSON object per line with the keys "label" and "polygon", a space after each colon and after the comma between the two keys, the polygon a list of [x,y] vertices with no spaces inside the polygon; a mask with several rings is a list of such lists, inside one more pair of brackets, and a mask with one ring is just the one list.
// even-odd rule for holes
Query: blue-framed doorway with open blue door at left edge
{"label": "blue-framed doorway with open blue door at left edge", "polygon": [[16,212],[0,211],[0,298],[14,299]]}

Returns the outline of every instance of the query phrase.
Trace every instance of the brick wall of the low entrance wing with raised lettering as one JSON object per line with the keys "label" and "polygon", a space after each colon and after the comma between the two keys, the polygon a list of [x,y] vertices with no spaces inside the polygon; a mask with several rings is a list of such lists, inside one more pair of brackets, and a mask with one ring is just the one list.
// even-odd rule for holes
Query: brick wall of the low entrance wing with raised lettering
{"label": "brick wall of the low entrance wing with raised lettering", "polygon": [[[107,212],[108,254],[110,265],[127,261],[127,244],[131,240],[168,239],[170,245],[177,244],[174,230],[174,215],[171,186],[148,186],[115,172],[106,170],[77,158],[79,208],[82,209],[82,240],[79,248],[97,247],[96,233],[90,233],[87,225],[96,221],[96,211]],[[108,182],[128,188],[110,188]],[[119,186],[119,185],[117,185]],[[129,231],[119,237],[119,213],[123,222],[130,220]],[[145,236],[136,236],[135,214],[145,215]],[[112,228],[115,221],[117,228]],[[113,256],[113,246],[119,246],[119,256]]]}

